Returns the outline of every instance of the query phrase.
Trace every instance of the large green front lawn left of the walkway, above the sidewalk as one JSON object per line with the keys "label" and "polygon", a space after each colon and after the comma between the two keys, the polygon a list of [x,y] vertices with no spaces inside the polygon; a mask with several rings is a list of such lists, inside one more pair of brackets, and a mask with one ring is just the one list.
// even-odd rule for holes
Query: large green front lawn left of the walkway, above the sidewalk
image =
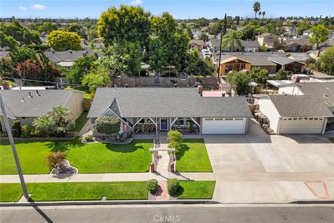
{"label": "large green front lawn left of the walkway, above the sidewalk", "polygon": [[[9,141],[0,144],[0,174],[17,174]],[[82,144],[72,141],[16,141],[24,174],[49,174],[45,157],[50,152],[67,153],[70,164],[83,173],[145,172],[150,168],[153,146],[150,139],[134,140],[126,145]]]}

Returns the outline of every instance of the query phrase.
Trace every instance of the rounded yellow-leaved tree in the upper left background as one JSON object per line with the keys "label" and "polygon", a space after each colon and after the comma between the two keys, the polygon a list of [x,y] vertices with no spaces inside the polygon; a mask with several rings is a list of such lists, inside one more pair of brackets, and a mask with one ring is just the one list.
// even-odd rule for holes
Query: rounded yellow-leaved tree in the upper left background
{"label": "rounded yellow-leaved tree in the upper left background", "polygon": [[81,49],[80,36],[77,33],[62,30],[51,31],[51,33],[47,36],[47,43],[51,48],[58,51]]}

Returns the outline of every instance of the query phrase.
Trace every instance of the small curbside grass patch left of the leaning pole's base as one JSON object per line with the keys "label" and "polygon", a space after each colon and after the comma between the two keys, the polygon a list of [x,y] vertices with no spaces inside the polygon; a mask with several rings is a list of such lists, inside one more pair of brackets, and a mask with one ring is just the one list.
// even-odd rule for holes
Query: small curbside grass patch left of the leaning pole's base
{"label": "small curbside grass patch left of the leaning pole's base", "polygon": [[0,183],[0,202],[19,201],[22,194],[19,183]]}

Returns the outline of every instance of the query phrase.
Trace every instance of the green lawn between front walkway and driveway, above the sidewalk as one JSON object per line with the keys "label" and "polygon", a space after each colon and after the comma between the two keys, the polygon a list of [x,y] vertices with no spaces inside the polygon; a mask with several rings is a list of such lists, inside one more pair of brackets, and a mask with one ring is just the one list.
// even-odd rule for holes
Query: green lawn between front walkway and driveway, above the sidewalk
{"label": "green lawn between front walkway and driveway, above the sidewalk", "polygon": [[176,171],[212,172],[203,139],[184,139],[183,144],[180,152],[176,154]]}

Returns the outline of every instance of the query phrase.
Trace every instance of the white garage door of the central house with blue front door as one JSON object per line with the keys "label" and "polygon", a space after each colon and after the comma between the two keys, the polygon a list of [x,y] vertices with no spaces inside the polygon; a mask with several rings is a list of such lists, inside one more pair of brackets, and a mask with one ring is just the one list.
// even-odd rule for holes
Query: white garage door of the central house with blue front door
{"label": "white garage door of the central house with blue front door", "polygon": [[246,118],[203,118],[202,134],[244,134]]}

